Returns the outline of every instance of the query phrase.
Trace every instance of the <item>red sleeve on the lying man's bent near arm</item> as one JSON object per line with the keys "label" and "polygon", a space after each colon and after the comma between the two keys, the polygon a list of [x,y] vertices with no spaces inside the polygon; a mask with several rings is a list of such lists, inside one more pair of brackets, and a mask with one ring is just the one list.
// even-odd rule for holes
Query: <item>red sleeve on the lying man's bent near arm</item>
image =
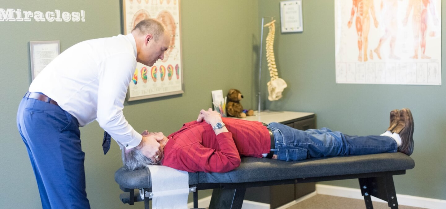
{"label": "red sleeve on the lying man's bent near arm", "polygon": [[182,147],[177,152],[181,170],[188,172],[228,172],[240,166],[240,155],[231,132],[217,135],[219,148],[206,148],[196,142]]}

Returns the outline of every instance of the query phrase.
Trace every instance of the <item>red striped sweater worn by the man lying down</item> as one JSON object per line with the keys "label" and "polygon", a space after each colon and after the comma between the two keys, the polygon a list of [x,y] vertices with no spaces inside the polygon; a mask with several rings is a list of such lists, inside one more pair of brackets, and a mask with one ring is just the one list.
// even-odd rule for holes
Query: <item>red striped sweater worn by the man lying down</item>
{"label": "red striped sweater worn by the man lying down", "polygon": [[229,132],[215,135],[211,125],[192,121],[167,138],[162,165],[187,172],[228,172],[240,165],[240,156],[269,153],[268,129],[257,121],[223,118]]}

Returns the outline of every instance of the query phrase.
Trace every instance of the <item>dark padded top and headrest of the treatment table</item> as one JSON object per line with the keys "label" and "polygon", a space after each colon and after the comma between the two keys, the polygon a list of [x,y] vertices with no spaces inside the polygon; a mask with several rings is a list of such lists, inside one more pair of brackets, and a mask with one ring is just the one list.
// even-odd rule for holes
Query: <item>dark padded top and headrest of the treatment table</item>
{"label": "dark padded top and headrest of the treatment table", "polygon": [[[336,156],[286,162],[266,158],[242,157],[240,167],[226,173],[189,173],[189,184],[244,183],[322,176],[388,172],[412,169],[415,162],[401,153],[380,153],[362,156]],[[150,188],[148,168],[115,172],[122,188]]]}

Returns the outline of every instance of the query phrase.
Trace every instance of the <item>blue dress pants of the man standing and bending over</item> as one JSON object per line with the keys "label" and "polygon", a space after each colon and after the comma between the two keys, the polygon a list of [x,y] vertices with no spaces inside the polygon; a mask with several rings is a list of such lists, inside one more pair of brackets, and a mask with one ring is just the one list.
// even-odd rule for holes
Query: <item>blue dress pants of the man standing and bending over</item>
{"label": "blue dress pants of the man standing and bending over", "polygon": [[57,105],[24,97],[17,111],[17,127],[43,208],[89,209],[77,119]]}

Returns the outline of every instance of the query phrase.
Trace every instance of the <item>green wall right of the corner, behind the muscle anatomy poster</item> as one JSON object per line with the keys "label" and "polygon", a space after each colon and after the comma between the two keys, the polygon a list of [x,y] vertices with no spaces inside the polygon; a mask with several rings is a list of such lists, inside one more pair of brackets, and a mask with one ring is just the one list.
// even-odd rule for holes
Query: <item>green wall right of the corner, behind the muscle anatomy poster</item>
{"label": "green wall right of the corner, behind the muscle anatomy poster", "polygon": [[[259,0],[259,19],[280,20],[280,0]],[[446,200],[446,90],[443,86],[367,85],[335,83],[335,1],[303,0],[304,31],[280,33],[276,25],[275,55],[279,76],[288,83],[285,96],[266,102],[272,110],[307,111],[317,115],[317,127],[349,135],[378,135],[389,123],[389,112],[409,107],[415,131],[411,156],[415,168],[395,176],[399,194]],[[443,10],[446,4],[442,4]],[[442,14],[446,26],[445,15]],[[443,35],[445,30],[443,31]],[[268,30],[266,29],[266,33]],[[446,40],[442,43],[446,44]],[[442,49],[445,51],[445,49]],[[442,52],[442,57],[445,56]],[[266,62],[264,62],[266,64]],[[442,63],[446,69],[446,63]],[[264,77],[268,76],[264,74]],[[443,82],[446,75],[442,75]],[[358,188],[358,180],[321,182]]]}

